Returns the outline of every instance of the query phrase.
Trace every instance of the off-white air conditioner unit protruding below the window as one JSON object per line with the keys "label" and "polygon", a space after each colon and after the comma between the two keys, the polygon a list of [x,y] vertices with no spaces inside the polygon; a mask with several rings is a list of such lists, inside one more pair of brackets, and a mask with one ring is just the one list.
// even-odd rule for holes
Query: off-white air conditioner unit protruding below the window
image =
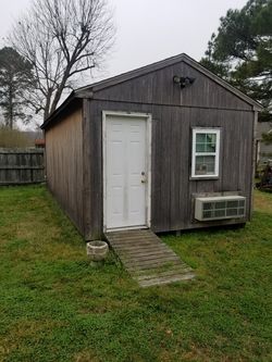
{"label": "off-white air conditioner unit protruding below the window", "polygon": [[243,196],[215,196],[195,199],[195,219],[198,221],[245,217],[246,198]]}

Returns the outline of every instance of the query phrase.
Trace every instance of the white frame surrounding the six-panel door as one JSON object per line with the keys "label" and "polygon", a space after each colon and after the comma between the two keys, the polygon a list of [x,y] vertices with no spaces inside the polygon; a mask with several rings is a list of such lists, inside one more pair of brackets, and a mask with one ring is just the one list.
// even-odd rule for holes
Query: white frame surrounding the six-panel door
{"label": "white frame surrounding the six-panel door", "polygon": [[[139,226],[126,226],[120,228],[107,228],[107,117],[120,116],[123,118],[144,118],[146,121],[146,162],[147,162],[147,188],[146,188],[146,225]],[[137,229],[137,228],[149,228],[151,226],[151,129],[152,129],[152,117],[150,113],[136,113],[136,112],[124,112],[124,111],[102,111],[102,173],[103,173],[103,232],[107,230],[125,230],[125,229]]]}

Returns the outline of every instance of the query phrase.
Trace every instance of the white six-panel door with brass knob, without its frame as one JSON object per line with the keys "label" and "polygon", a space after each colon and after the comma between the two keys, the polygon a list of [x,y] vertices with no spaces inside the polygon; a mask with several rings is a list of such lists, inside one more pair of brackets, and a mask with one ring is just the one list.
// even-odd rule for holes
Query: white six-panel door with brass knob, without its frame
{"label": "white six-panel door with brass knob, without its frame", "polygon": [[106,229],[147,225],[147,120],[106,116]]}

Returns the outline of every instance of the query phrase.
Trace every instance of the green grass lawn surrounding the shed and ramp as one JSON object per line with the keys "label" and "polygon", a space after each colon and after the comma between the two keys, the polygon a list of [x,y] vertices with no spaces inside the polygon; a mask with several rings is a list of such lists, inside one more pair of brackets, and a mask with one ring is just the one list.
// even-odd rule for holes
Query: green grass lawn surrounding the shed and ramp
{"label": "green grass lawn surrounding the shed and ramp", "polygon": [[163,240],[197,279],[139,289],[46,188],[0,188],[0,361],[272,361],[272,194],[244,229]]}

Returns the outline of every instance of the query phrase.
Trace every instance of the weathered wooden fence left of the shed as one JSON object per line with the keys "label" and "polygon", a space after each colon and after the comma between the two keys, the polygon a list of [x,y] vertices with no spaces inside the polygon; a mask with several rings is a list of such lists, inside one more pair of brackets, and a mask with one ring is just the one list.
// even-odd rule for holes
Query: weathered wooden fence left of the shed
{"label": "weathered wooden fence left of the shed", "polygon": [[0,185],[45,182],[44,161],[44,150],[0,149]]}

